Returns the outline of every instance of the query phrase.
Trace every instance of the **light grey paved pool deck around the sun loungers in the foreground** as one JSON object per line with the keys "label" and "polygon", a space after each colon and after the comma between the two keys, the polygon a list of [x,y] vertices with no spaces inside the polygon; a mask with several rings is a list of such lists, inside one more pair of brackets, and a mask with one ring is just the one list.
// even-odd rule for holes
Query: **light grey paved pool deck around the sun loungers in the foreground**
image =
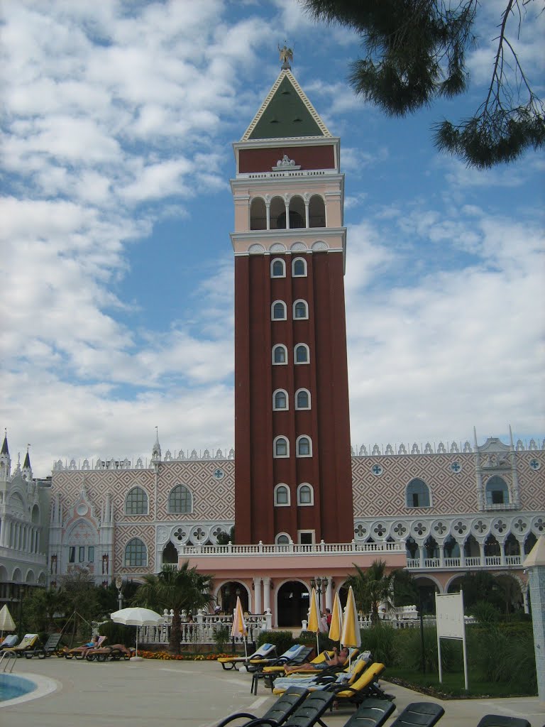
{"label": "light grey paved pool deck around the sun loungers in the foreground", "polygon": [[[75,659],[17,659],[14,674],[41,675],[57,690],[26,702],[0,703],[0,724],[17,727],[212,727],[240,710],[256,715],[275,697],[259,686],[250,693],[251,675],[224,671],[215,662],[76,662]],[[523,675],[521,675],[523,678]],[[409,702],[440,702],[403,687],[394,694],[397,715]],[[545,704],[537,697],[466,699],[440,702],[440,727],[475,727],[488,713],[524,716],[532,727],[545,726]],[[342,727],[353,708],[326,714],[328,727]],[[77,721],[76,721],[77,715]],[[391,724],[393,718],[387,725]]]}

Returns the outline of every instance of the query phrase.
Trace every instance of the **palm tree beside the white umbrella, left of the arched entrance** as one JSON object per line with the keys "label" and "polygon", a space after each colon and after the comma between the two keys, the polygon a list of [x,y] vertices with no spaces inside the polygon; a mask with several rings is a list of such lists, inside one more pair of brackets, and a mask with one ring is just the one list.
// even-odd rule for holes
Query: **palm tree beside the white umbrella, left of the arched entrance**
{"label": "palm tree beside the white umbrella, left of the arched entrance", "polygon": [[198,573],[189,567],[189,561],[179,568],[164,565],[161,573],[146,574],[144,582],[131,599],[134,606],[145,606],[155,610],[171,608],[174,612],[170,629],[169,648],[179,654],[182,640],[182,611],[195,612],[208,606],[213,576]]}

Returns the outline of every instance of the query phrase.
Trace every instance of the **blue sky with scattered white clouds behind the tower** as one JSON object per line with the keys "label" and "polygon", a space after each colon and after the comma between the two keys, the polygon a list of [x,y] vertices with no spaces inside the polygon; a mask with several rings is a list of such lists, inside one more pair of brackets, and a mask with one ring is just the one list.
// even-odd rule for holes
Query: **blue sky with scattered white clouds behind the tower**
{"label": "blue sky with scattered white clouds behind the tower", "polygon": [[[230,449],[231,144],[278,44],[342,139],[352,443],[543,440],[544,168],[488,172],[430,127],[483,99],[504,3],[481,7],[469,93],[387,119],[347,85],[358,39],[295,0],[3,4],[0,425],[54,459]],[[512,39],[543,94],[545,18]]]}

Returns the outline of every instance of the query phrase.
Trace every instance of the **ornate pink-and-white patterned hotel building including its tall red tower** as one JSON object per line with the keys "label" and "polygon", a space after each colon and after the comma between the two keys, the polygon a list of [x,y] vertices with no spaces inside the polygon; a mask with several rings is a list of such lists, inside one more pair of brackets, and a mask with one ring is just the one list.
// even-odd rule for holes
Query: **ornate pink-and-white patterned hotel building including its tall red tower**
{"label": "ornate pink-and-white patterned hotel building including its tall red tower", "polygon": [[331,606],[354,563],[382,559],[429,593],[467,571],[512,577],[527,606],[545,441],[351,450],[339,138],[285,63],[233,148],[235,451],[163,455],[156,441],[149,462],[58,460],[49,584],[78,565],[107,584],[189,560],[225,610],[240,593],[296,625],[311,579],[327,580]]}

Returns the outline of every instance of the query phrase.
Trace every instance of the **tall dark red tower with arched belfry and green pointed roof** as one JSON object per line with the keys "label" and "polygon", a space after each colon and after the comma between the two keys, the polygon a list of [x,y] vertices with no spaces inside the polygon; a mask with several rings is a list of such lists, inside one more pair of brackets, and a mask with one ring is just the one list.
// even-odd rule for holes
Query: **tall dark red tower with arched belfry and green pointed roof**
{"label": "tall dark red tower with arched belfry and green pointed roof", "polygon": [[339,138],[285,63],[234,150],[236,542],[350,542]]}

